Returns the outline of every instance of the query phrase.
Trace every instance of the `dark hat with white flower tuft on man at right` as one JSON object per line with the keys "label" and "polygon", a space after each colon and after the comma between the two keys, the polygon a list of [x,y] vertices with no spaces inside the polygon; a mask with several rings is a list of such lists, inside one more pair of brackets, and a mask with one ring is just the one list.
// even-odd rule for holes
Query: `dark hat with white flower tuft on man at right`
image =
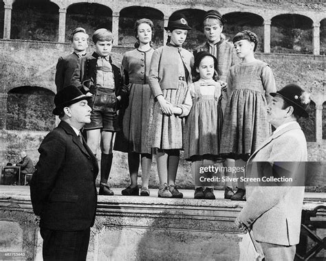
{"label": "dark hat with white flower tuft on man at right", "polygon": [[287,84],[276,93],[270,93],[273,97],[275,95],[281,96],[286,102],[294,107],[296,114],[302,117],[309,117],[307,109],[310,102],[310,94],[298,87],[296,84]]}

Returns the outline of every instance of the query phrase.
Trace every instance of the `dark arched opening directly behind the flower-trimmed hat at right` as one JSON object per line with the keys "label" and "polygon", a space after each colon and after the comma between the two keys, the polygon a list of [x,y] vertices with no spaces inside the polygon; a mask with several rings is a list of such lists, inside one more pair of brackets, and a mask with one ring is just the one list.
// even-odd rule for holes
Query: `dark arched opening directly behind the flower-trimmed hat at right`
{"label": "dark arched opening directly behind the flower-trimmed hat at right", "polygon": [[309,142],[316,141],[316,104],[311,101],[307,109],[309,118],[301,117],[298,120],[303,133],[305,133],[305,139]]}

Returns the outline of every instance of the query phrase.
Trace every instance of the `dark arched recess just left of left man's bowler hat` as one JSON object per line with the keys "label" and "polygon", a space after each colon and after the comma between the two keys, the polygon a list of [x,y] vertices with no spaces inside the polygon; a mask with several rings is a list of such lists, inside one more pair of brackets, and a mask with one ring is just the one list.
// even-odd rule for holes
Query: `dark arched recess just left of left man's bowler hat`
{"label": "dark arched recess just left of left man's bowler hat", "polygon": [[51,131],[54,93],[43,87],[23,86],[8,91],[6,129]]}

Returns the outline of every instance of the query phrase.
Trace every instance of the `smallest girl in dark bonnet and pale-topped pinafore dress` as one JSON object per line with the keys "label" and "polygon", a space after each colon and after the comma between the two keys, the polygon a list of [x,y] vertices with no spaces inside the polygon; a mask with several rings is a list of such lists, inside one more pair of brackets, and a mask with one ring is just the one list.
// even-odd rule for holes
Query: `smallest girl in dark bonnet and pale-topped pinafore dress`
{"label": "smallest girl in dark bonnet and pale-topped pinafore dress", "polygon": [[[213,166],[219,158],[223,113],[219,98],[226,98],[217,78],[217,59],[208,52],[195,56],[194,75],[197,80],[189,86],[193,107],[188,115],[184,139],[184,158],[192,161],[195,181],[194,198],[215,199],[212,186],[199,181],[199,168]],[[197,74],[197,75],[196,75]],[[197,78],[197,79],[196,79]],[[222,95],[222,96],[221,96]]]}

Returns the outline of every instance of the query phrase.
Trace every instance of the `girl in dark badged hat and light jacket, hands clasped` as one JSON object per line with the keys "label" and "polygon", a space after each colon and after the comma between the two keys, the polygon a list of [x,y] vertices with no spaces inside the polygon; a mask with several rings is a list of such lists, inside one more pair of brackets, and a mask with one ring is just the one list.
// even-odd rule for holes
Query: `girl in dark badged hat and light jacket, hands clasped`
{"label": "girl in dark badged hat and light jacket, hands clasped", "polygon": [[149,71],[153,99],[147,142],[156,149],[158,196],[182,198],[183,194],[175,188],[175,177],[183,148],[183,117],[191,109],[191,98],[186,99],[186,94],[193,65],[193,54],[183,49],[182,43],[191,27],[184,16],[172,14],[164,29],[168,44],[155,50]]}

